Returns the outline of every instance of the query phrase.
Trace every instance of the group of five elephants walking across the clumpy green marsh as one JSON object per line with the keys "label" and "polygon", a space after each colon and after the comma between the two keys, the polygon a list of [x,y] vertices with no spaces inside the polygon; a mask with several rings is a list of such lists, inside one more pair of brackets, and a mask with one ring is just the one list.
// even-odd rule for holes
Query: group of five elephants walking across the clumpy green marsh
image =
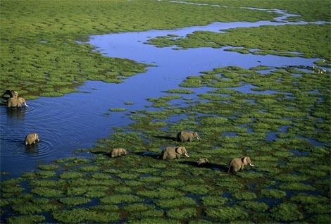
{"label": "group of five elephants walking across the clumpy green marsh", "polygon": [[[199,137],[197,132],[182,131],[177,134],[177,142],[192,142],[193,139],[200,140],[201,138]],[[113,158],[126,155],[127,151],[123,148],[111,149],[109,154]],[[171,160],[174,158],[180,158],[182,155],[188,158],[190,157],[185,147],[166,147],[163,151],[161,151],[161,155],[159,155],[158,158],[161,158],[163,160]],[[208,158],[199,158],[196,163],[198,166],[202,166],[206,163],[209,163],[209,161]],[[248,156],[232,158],[229,163],[228,173],[236,174],[237,172],[242,171],[244,169],[244,166],[246,165],[249,165],[251,167],[254,166],[254,164],[251,162],[251,158],[249,158]]]}

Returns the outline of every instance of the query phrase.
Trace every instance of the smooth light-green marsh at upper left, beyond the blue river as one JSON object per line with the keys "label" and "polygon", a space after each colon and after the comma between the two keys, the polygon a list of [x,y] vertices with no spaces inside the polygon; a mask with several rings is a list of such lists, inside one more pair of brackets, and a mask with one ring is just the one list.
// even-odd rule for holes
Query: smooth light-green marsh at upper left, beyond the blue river
{"label": "smooth light-green marsh at upper left, beyond the blue river", "polygon": [[86,80],[120,83],[146,70],[146,64],[101,56],[93,51],[94,46],[77,42],[87,41],[89,35],[275,17],[275,13],[249,9],[149,0],[38,0],[24,4],[1,0],[0,14],[0,92],[15,89],[26,99],[59,97],[74,92]]}

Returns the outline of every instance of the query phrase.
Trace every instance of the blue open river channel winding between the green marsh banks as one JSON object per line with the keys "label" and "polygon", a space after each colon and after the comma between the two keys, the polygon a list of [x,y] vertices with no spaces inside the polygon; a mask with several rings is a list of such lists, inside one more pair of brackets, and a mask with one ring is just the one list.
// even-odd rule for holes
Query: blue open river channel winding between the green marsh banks
{"label": "blue open river channel winding between the green marsh banks", "polygon": [[[113,127],[124,127],[131,122],[129,116],[125,116],[127,112],[107,115],[109,108],[127,108],[128,112],[144,109],[151,104],[146,98],[161,97],[165,94],[162,91],[178,88],[183,79],[199,75],[200,71],[223,66],[313,66],[318,58],[254,56],[224,51],[227,47],[174,50],[144,44],[149,38],[170,34],[185,36],[196,30],[219,32],[235,27],[284,24],[270,21],[212,23],[177,30],[92,36],[89,43],[105,56],[130,58],[153,63],[156,67],[149,67],[146,73],[130,77],[122,84],[88,81],[78,88],[79,92],[28,101],[30,106],[21,111],[8,111],[6,106],[0,106],[1,171],[20,175],[33,170],[37,163],[73,156],[75,149],[93,147],[97,139],[111,135]],[[243,87],[240,91],[251,92],[251,88]],[[199,89],[194,92],[199,93]],[[135,104],[127,106],[126,101]],[[31,132],[37,132],[41,142],[35,147],[25,147],[25,135]]]}

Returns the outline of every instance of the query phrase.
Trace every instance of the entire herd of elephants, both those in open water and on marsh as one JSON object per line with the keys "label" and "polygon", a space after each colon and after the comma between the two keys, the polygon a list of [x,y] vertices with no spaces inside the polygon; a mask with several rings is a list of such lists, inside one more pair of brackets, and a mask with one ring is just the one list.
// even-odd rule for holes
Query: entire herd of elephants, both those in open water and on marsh
{"label": "entire herd of elephants, both those in open water and on marsh", "polygon": [[[13,90],[7,90],[2,95],[2,98],[7,100],[7,108],[11,108],[11,109],[20,108],[22,104],[27,106],[25,99],[23,97],[18,97],[18,92]],[[191,132],[191,131],[181,131],[177,134],[177,138],[176,138],[177,142],[192,142],[194,139],[200,140],[201,138],[197,132]],[[25,137],[26,146],[36,144],[39,141],[40,140],[37,133],[32,133]],[[123,148],[111,149],[111,151],[109,152],[111,158],[118,156],[125,156],[126,154],[127,151]],[[185,147],[182,146],[166,147],[161,152],[161,155],[158,156],[158,158],[161,158],[163,160],[171,160],[174,158],[180,158],[182,155],[186,157],[190,157]],[[202,166],[206,163],[209,163],[209,161],[208,158],[199,158],[198,161],[196,161],[196,163],[198,166]],[[243,156],[241,158],[232,158],[232,160],[229,163],[228,173],[236,174],[238,171],[243,170],[244,166],[246,165],[254,166],[254,164],[251,163],[251,159],[249,157]]]}

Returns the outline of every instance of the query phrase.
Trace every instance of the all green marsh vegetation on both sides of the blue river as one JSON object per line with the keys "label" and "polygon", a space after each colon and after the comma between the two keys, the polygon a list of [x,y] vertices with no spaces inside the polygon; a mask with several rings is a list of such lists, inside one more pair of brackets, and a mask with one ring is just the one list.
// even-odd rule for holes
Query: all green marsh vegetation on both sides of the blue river
{"label": "all green marsh vegetation on both sides of the blue river", "polygon": [[[314,7],[309,5],[311,1],[204,2],[283,8],[305,20],[330,20],[327,1],[314,1]],[[75,43],[87,35],[274,17],[263,11],[167,1],[113,1],[110,8],[107,1],[80,1],[80,7],[75,1],[55,1],[52,7],[46,7],[49,1],[25,3],[23,11],[19,1],[0,1],[0,89],[18,89],[31,98],[57,96],[54,92],[62,88],[65,94],[85,80],[121,82],[125,75],[144,71],[146,65],[106,58],[92,52],[92,46]],[[162,16],[154,11],[160,4],[168,9],[161,11]],[[239,14],[242,18],[236,17]],[[223,35],[258,34],[270,28],[246,28]],[[283,29],[278,32],[288,32],[289,26]],[[293,29],[316,29],[324,34],[327,27]],[[273,34],[284,37],[275,30]],[[330,61],[325,37],[318,37],[324,45],[307,38],[315,51],[303,46],[299,52]],[[295,49],[300,44],[284,41]],[[189,47],[195,46],[192,43]],[[270,43],[264,43],[258,48],[266,51]],[[292,51],[286,44],[277,45],[268,47],[276,53]],[[262,75],[261,70],[268,73]],[[244,85],[251,85],[254,91],[235,89]],[[199,95],[194,94],[194,88],[200,88]],[[169,89],[159,99],[146,99],[151,106],[131,113],[129,127],[117,127],[93,149],[80,150],[92,152],[90,158],[79,154],[61,158],[1,181],[1,216],[7,216],[7,223],[239,223],[247,218],[252,223],[330,223],[329,89],[330,72],[263,66],[202,71],[187,77],[180,89]],[[261,94],[265,90],[275,93]],[[121,108],[111,112],[127,113]],[[173,139],[180,130],[196,130],[201,135],[200,142],[183,143],[192,158],[158,160],[160,149],[177,144]],[[124,147],[129,154],[110,158],[106,153],[113,147]],[[249,155],[256,166],[245,167],[237,175],[227,174],[230,158],[242,155]],[[197,167],[196,160],[202,157],[211,163]]]}

